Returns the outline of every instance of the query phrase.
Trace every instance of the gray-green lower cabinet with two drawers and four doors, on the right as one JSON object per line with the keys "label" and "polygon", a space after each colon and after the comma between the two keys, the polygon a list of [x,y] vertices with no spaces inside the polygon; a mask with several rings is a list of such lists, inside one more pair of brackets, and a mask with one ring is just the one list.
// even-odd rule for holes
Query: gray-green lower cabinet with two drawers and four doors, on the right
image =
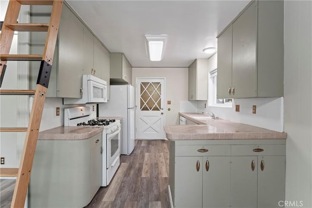
{"label": "gray-green lower cabinet with two drawers and four doors, on the right", "polygon": [[285,140],[170,141],[169,156],[176,208],[278,208],[285,200]]}

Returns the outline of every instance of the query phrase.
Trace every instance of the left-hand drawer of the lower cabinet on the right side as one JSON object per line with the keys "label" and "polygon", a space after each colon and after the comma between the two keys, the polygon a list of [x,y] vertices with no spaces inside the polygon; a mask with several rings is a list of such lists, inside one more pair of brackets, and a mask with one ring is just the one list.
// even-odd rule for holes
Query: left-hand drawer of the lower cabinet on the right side
{"label": "left-hand drawer of the lower cabinet on the right side", "polygon": [[229,156],[230,145],[177,145],[176,156]]}

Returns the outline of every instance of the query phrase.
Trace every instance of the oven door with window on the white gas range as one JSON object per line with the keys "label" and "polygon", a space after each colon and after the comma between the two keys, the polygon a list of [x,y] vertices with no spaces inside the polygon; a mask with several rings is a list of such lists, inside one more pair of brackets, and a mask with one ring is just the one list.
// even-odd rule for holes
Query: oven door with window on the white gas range
{"label": "oven door with window on the white gas range", "polygon": [[109,133],[107,138],[107,167],[109,168],[120,152],[120,127],[116,132]]}

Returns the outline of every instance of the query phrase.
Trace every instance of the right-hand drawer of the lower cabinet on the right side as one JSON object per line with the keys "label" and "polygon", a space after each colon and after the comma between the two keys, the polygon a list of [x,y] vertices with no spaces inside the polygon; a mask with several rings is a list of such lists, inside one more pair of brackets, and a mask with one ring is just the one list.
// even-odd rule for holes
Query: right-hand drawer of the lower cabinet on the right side
{"label": "right-hand drawer of the lower cabinet on the right side", "polygon": [[231,155],[285,155],[285,145],[232,145]]}

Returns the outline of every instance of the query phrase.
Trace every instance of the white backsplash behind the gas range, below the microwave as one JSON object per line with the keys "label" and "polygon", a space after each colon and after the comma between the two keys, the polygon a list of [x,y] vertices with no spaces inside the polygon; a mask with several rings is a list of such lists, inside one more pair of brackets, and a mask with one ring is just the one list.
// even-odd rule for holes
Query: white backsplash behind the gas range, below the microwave
{"label": "white backsplash behind the gas range, below the microwave", "polygon": [[[30,98],[30,106],[32,106],[32,99]],[[97,104],[82,104],[82,105],[63,105],[63,98],[45,99],[42,118],[40,123],[40,132],[48,129],[64,125],[64,108],[72,108],[77,106],[94,106],[92,117],[97,117]],[[56,108],[59,107],[59,116],[56,116]]]}

